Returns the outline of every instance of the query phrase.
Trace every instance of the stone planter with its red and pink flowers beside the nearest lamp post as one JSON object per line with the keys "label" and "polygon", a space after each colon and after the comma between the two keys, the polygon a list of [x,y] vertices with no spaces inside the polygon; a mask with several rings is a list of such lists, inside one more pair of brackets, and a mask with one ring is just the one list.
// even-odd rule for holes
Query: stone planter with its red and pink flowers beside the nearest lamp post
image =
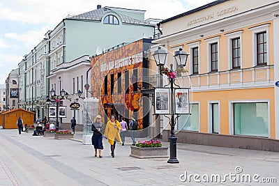
{"label": "stone planter with its red and pink flowers beside the nearest lamp post", "polygon": [[167,147],[163,147],[160,140],[139,141],[135,146],[130,146],[130,156],[137,158],[168,157]]}

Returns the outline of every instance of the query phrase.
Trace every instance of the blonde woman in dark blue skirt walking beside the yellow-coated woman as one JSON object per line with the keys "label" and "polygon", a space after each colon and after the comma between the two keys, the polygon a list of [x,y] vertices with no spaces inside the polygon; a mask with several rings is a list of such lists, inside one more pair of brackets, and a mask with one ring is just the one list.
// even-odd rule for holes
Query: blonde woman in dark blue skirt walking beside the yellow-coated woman
{"label": "blonde woman in dark blue skirt walking beside the yellow-coated woman", "polygon": [[91,130],[93,131],[93,136],[92,136],[92,145],[94,146],[95,150],[95,157],[97,157],[97,149],[99,151],[99,157],[102,156],[102,150],[104,149],[103,147],[103,123],[101,122],[101,117],[100,115],[96,116],[95,122],[92,123]]}

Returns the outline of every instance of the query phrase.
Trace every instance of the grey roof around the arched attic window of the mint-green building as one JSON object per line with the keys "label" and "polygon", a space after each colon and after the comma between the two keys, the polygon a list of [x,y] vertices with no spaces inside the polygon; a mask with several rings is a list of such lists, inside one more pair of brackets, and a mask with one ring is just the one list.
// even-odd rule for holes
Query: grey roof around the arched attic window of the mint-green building
{"label": "grey roof around the arched attic window of the mint-green building", "polygon": [[129,17],[127,15],[123,15],[117,11],[114,11],[108,7],[104,7],[104,8],[98,8],[96,10],[92,10],[92,11],[89,11],[87,13],[82,13],[80,15],[74,15],[72,17],[67,17],[66,19],[67,20],[91,20],[91,21],[101,21],[102,20],[102,17],[103,15],[105,15],[106,13],[116,13],[117,15],[119,15],[119,17],[121,17],[121,21],[123,23],[126,23],[126,24],[146,24],[146,25],[149,25],[148,22],[143,22],[143,21],[140,21],[140,20],[136,20],[134,19],[133,17]]}

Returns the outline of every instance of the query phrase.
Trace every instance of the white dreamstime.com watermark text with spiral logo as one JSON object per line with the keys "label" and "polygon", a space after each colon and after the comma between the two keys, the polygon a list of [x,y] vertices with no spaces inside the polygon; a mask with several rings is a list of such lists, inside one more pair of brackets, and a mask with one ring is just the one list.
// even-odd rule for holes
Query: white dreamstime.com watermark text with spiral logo
{"label": "white dreamstime.com watermark text with spiral logo", "polygon": [[223,176],[218,173],[209,174],[191,174],[185,171],[179,176],[181,182],[196,182],[196,183],[225,183],[230,181],[232,183],[276,183],[276,178],[262,178],[259,174],[244,174],[241,166],[234,168],[235,173],[229,172]]}

